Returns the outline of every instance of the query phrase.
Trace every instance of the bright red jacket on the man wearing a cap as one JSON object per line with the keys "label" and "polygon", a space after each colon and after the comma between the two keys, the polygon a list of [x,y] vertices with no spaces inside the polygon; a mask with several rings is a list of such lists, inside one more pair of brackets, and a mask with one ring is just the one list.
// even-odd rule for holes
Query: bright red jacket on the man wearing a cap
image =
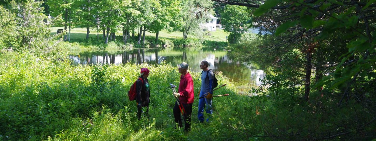
{"label": "bright red jacket on the man wearing a cap", "polygon": [[193,79],[190,73],[184,76],[180,75],[180,83],[178,92],[180,94],[179,100],[183,104],[191,104],[194,100],[193,93]]}

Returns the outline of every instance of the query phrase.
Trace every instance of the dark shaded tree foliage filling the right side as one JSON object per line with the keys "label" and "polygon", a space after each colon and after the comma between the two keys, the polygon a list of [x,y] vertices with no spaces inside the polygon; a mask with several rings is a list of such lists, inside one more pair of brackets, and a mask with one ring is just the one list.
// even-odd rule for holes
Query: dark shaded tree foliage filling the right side
{"label": "dark shaded tree foliage filling the right side", "polygon": [[212,1],[248,7],[249,23],[263,33],[232,47],[232,56],[269,70],[264,85],[252,91],[270,97],[257,105],[263,118],[239,124],[251,123],[244,133],[282,140],[376,138],[374,1]]}

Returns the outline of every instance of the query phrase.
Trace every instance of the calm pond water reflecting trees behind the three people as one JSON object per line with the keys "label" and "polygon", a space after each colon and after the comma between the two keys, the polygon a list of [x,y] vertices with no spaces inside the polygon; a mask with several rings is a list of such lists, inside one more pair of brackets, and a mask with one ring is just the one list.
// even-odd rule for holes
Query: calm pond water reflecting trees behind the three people
{"label": "calm pond water reflecting trees behind the three people", "polygon": [[[222,71],[231,82],[240,85],[261,85],[259,79],[265,77],[263,70],[255,69],[252,65],[236,62],[227,57],[228,50],[214,48],[204,49],[138,49],[127,52],[85,52],[79,55],[70,55],[73,64],[121,64],[126,62],[148,64],[160,64],[165,61],[176,67],[181,62],[190,66],[190,71],[201,72],[199,65],[201,61],[209,62],[209,69]],[[140,58],[138,58],[138,56]]]}

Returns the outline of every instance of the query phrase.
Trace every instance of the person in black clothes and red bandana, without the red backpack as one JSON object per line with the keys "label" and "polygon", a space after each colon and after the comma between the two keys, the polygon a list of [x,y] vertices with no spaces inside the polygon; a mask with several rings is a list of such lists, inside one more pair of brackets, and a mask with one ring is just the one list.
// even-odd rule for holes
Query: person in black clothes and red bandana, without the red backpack
{"label": "person in black clothes and red bandana, without the red backpack", "polygon": [[149,103],[150,103],[150,86],[149,86],[149,81],[147,80],[147,77],[149,77],[149,69],[147,68],[141,68],[141,73],[139,78],[136,81],[136,102],[137,102],[137,117],[138,120],[141,120],[141,113],[142,108],[146,107],[145,115],[149,119]]}

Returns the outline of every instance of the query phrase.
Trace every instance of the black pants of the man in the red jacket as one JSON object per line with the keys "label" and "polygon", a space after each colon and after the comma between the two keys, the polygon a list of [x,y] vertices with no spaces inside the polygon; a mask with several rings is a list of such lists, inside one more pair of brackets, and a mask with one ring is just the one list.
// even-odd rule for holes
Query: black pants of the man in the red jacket
{"label": "black pants of the man in the red jacket", "polygon": [[[191,104],[182,104],[182,105],[185,109],[185,112],[182,109],[182,111],[184,113],[184,119],[185,119],[184,130],[189,131],[191,129],[192,103]],[[183,127],[182,126],[182,117],[180,116],[181,112],[180,112],[179,106],[177,106],[176,102],[175,102],[175,106],[174,106],[173,111],[174,111],[175,122],[177,122],[179,127]]]}

